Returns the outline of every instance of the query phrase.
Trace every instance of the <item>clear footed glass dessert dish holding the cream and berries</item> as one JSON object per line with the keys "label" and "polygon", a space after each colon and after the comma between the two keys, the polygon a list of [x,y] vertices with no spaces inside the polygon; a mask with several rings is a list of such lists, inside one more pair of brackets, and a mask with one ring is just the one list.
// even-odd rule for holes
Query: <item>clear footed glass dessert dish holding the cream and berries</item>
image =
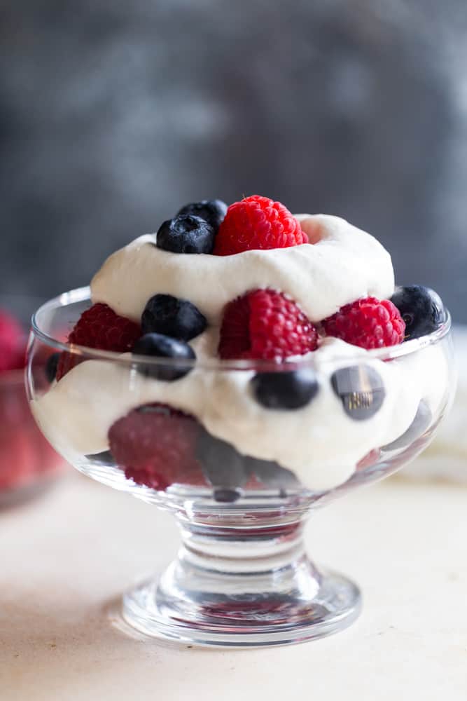
{"label": "clear footed glass dessert dish holding the cream and berries", "polygon": [[[430,442],[454,393],[449,315],[400,346],[354,355],[337,346],[326,362],[278,365],[66,343],[89,306],[83,288],[36,312],[27,386],[41,430],[76,469],[179,525],[178,555],[124,594],[125,620],[150,636],[211,646],[290,644],[347,627],[361,608],[358,587],[309,559],[303,529],[315,509],[390,475]],[[292,400],[279,409],[274,391],[284,387]],[[213,401],[219,415],[205,425]],[[316,416],[307,430],[305,411]]]}

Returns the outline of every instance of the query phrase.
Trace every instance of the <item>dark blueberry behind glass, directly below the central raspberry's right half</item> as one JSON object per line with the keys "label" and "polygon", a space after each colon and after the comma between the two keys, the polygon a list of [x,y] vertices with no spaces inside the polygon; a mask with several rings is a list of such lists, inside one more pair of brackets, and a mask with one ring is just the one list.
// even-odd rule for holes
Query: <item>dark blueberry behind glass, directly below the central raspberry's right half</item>
{"label": "dark blueberry behind glass, directly below the central raspberry's right half", "polygon": [[311,368],[293,372],[260,372],[251,380],[256,400],[266,409],[300,409],[312,401],[319,390]]}

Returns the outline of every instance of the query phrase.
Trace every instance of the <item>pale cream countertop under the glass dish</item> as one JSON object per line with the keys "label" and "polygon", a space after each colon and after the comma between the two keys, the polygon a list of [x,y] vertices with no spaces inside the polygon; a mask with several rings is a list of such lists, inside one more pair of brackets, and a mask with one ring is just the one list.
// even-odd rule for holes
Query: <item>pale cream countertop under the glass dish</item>
{"label": "pale cream countertop under the glass dish", "polygon": [[1,701],[465,701],[467,489],[361,489],[316,515],[308,543],[363,587],[347,631],[244,651],[130,637],[118,594],[174,554],[174,523],[70,472],[0,513]]}

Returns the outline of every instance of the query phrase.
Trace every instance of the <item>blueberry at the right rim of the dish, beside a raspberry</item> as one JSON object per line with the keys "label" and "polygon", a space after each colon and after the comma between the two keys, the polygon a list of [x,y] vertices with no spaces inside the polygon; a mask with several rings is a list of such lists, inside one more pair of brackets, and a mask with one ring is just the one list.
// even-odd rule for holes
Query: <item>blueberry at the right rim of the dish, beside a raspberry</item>
{"label": "blueberry at the right rim of the dish, beside a raspberry", "polygon": [[431,334],[446,320],[440,296],[429,287],[396,287],[391,302],[405,321],[405,341]]}

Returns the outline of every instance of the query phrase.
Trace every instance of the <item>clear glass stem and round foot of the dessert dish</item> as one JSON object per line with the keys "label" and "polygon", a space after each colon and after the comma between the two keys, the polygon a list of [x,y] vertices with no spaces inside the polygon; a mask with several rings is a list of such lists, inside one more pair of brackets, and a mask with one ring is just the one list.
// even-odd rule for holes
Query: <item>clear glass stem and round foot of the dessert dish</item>
{"label": "clear glass stem and round foot of the dessert dish", "polygon": [[316,569],[301,531],[228,545],[185,533],[160,579],[123,599],[123,618],[139,632],[204,646],[300,643],[344,629],[360,610],[358,587]]}

